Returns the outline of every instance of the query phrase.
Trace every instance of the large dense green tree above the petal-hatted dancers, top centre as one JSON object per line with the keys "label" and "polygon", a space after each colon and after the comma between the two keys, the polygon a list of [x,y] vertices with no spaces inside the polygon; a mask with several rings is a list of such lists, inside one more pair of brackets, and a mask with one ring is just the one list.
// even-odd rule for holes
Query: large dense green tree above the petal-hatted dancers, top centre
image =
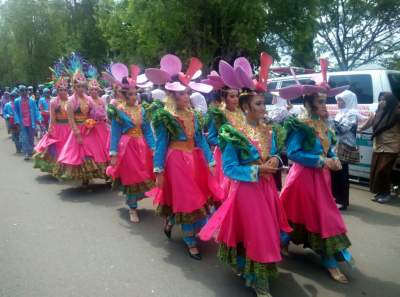
{"label": "large dense green tree above the petal-hatted dancers, top centre", "polygon": [[156,65],[170,52],[208,66],[215,57],[258,62],[261,51],[276,52],[265,38],[266,18],[262,0],[103,0],[97,17],[116,57]]}

